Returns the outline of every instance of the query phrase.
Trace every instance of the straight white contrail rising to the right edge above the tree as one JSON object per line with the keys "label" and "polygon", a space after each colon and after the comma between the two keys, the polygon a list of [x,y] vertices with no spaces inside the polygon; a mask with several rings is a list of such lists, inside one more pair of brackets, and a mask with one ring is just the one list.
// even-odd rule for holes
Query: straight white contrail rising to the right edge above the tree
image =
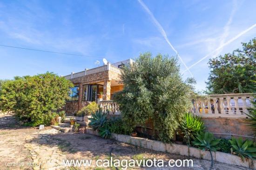
{"label": "straight white contrail rising to the right edge above the tree", "polygon": [[[247,32],[250,31],[250,30],[252,30],[254,27],[256,27],[256,24],[254,24],[254,25],[250,26],[248,29],[246,29],[246,30],[240,32],[240,33],[239,33],[238,35],[236,35],[234,38],[229,39],[229,41],[227,41],[226,43],[222,44],[222,45],[219,46],[217,49],[213,50],[212,52],[210,52],[209,54],[207,54],[206,56],[204,56],[204,57],[202,57],[200,60],[198,60],[196,63],[194,63],[194,64],[192,64],[191,66],[189,66],[188,69],[190,69],[190,68],[194,67],[196,64],[202,62],[202,60],[204,60],[205,58],[209,57],[210,55],[212,55],[212,54],[215,53],[216,51],[222,49],[222,48],[225,47],[226,45],[232,43],[232,42],[235,41],[237,38],[241,37],[243,34],[247,33]],[[188,70],[188,69],[187,69],[187,70]],[[184,72],[186,72],[187,70],[185,70]],[[183,73],[184,73],[184,72],[183,72]],[[182,73],[182,74],[183,74],[183,73]]]}

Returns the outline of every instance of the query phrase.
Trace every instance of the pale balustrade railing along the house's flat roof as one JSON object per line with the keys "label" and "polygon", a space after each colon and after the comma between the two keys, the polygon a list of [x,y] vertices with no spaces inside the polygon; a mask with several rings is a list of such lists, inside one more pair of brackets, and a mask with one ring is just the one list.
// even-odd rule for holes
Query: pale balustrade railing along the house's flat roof
{"label": "pale balustrade railing along the house's flat roof", "polygon": [[71,73],[70,75],[64,76],[66,79],[73,79],[73,78],[77,78],[77,77],[82,77],[82,76],[86,76],[86,75],[90,75],[90,74],[94,74],[94,73],[99,73],[102,71],[107,71],[107,70],[111,70],[114,71],[115,73],[120,74],[121,73],[121,69],[111,65],[110,63],[108,63],[107,65],[103,65],[100,67],[96,67],[94,69],[85,69],[84,71],[78,72],[78,73]]}

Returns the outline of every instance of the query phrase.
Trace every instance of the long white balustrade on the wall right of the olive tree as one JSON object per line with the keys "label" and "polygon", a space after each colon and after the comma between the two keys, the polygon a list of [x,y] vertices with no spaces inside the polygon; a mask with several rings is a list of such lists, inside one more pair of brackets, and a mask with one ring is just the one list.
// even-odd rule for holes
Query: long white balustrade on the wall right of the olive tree
{"label": "long white balustrade on the wall right of the olive tree", "polygon": [[206,96],[207,100],[195,100],[190,110],[201,117],[248,118],[250,101],[256,94],[217,94]]}

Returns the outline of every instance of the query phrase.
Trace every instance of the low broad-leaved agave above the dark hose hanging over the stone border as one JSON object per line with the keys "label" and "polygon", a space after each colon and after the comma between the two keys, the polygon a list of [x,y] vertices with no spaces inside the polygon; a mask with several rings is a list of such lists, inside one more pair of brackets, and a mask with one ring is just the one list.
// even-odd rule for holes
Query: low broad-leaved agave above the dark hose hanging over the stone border
{"label": "low broad-leaved agave above the dark hose hanging over the stone border", "polygon": [[206,132],[203,133],[201,132],[200,134],[197,134],[195,137],[195,141],[192,143],[196,146],[198,146],[199,149],[203,151],[209,151],[211,155],[211,167],[210,170],[212,169],[213,166],[213,157],[212,157],[212,152],[211,151],[216,151],[220,149],[217,145],[219,144],[221,139],[215,139],[213,137],[212,133]]}

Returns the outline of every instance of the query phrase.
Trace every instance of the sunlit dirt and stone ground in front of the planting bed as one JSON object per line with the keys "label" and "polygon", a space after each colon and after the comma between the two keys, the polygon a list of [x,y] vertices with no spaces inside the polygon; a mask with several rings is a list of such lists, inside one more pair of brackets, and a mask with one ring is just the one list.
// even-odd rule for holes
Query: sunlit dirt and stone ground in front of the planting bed
{"label": "sunlit dirt and stone ground in front of the planting bed", "polygon": [[[210,161],[185,157],[180,155],[155,152],[132,145],[117,142],[112,139],[101,139],[89,134],[61,133],[50,127],[38,130],[19,126],[13,119],[1,120],[0,116],[0,170],[83,170],[85,168],[64,167],[62,160],[92,160],[98,159],[163,159],[161,168],[128,168],[145,170],[208,170]],[[169,159],[192,159],[193,167],[165,167]],[[6,166],[6,163],[23,162],[24,166]],[[30,164],[28,164],[30,163]],[[34,166],[32,166],[34,163]],[[91,166],[91,170],[104,170]],[[117,170],[119,168],[108,168]],[[213,170],[246,170],[229,164],[214,163]]]}

